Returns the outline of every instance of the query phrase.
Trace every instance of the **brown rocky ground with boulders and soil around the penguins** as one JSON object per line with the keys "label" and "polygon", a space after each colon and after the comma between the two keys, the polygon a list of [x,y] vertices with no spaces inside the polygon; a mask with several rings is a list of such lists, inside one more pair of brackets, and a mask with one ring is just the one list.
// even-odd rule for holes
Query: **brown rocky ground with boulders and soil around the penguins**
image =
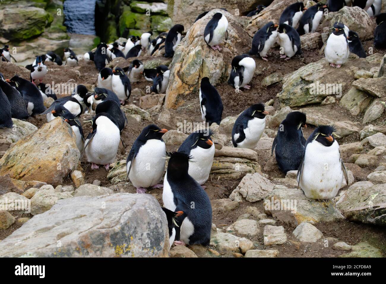
{"label": "brown rocky ground with boulders and soil around the penguins", "polygon": [[[254,17],[251,23],[259,26],[261,17],[274,19],[269,15],[273,12]],[[360,18],[351,13],[349,10],[344,15],[351,21],[347,25],[355,27]],[[269,62],[255,58],[252,88],[239,94],[226,82],[229,63],[236,53],[248,51],[248,33],[253,25],[245,25],[232,15],[227,15],[230,39],[221,54],[199,41],[205,22],[198,22],[176,49],[173,60],[161,54],[139,58],[145,68],[169,65],[171,82],[166,95],[146,92],[151,83],[145,80],[132,85],[132,95],[122,106],[128,119],[122,133],[125,154],[117,155],[117,162],[108,172],[103,168],[91,170],[85,157],[74,150],[71,129],[60,119],[46,124],[44,116],[37,116],[27,122],[15,120],[17,132],[0,129],[0,200],[29,200],[31,205],[30,213],[0,211],[0,255],[167,256],[166,219],[157,206],[157,201],[162,205],[162,189],[134,194],[132,184],[124,181],[125,159],[135,138],[149,123],[169,129],[164,135],[166,148],[178,149],[189,134],[178,131],[178,123],[201,122],[197,86],[200,78],[210,73],[224,105],[223,120],[219,126],[212,126],[217,131],[215,141],[224,146],[216,150],[205,183],[213,209],[212,238],[208,247],[174,246],[170,255],[383,257],[386,114],[382,102],[386,99],[386,51],[372,49],[367,58],[351,55],[340,69],[329,67],[318,49],[325,39],[323,26],[334,20],[334,15],[330,17],[317,33],[302,37],[306,47],[302,56],[282,61],[279,49],[274,48]],[[367,20],[373,28],[373,19],[361,21]],[[367,38],[363,44],[370,50],[372,39]],[[110,66],[129,64],[130,60],[118,58]],[[47,83],[90,86],[97,78],[93,63],[83,60],[75,68],[50,63],[48,68]],[[15,72],[28,77],[27,70],[12,63],[2,63],[0,71],[6,78]],[[338,83],[342,95],[310,92],[310,86],[317,83]],[[237,115],[257,102],[265,102],[270,113],[258,147],[233,148],[230,134]],[[349,170],[349,185],[343,185],[334,200],[306,198],[296,189],[296,172],[284,175],[271,156],[278,126],[293,110],[307,115],[305,138],[318,124],[334,124],[340,131],[338,141]],[[85,121],[91,117],[81,116],[85,135],[91,129]],[[286,201],[289,205],[293,202],[291,209],[296,204],[296,210],[272,207],[283,206]],[[10,248],[16,240],[23,241],[18,248]]]}

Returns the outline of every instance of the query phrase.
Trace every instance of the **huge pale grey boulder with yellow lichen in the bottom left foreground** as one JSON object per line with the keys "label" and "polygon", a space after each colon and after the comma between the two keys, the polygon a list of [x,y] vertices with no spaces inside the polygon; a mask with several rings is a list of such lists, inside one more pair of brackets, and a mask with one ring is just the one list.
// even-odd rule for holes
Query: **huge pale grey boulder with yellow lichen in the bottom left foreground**
{"label": "huge pale grey boulder with yellow lichen in the bottom left foreground", "polygon": [[59,201],[2,240],[0,255],[168,257],[168,221],[150,194],[74,197]]}

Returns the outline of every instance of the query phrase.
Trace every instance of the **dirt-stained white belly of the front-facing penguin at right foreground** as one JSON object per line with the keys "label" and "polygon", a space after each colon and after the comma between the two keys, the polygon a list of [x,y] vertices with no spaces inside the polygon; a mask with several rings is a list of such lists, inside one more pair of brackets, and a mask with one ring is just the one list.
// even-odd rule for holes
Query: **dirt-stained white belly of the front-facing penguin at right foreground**
{"label": "dirt-stained white belly of the front-facing penguin at right foreground", "polygon": [[330,147],[317,141],[308,143],[300,180],[305,195],[312,199],[332,199],[337,195],[342,181],[338,142],[335,141]]}

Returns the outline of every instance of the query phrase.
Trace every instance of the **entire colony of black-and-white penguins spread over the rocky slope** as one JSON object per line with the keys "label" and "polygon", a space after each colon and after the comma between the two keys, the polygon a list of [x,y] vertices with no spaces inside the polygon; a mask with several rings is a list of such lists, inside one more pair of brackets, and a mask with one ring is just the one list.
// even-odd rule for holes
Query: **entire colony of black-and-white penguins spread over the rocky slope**
{"label": "entire colony of black-and-white penguins spread over the rocky slope", "polygon": [[[303,3],[293,3],[284,9],[279,22],[269,22],[256,34],[248,54],[235,56],[230,62],[232,66],[228,83],[237,89],[250,89],[248,85],[254,75],[256,63],[252,56],[268,61],[268,52],[274,44],[279,44],[280,58],[290,60],[301,54],[300,35],[315,32],[326,11],[338,11],[346,5],[344,0],[328,0],[327,5],[317,3],[306,9]],[[352,5],[366,10],[371,17],[377,17],[374,31],[374,45],[386,47],[386,14],[380,14],[381,0],[353,0]],[[256,10],[247,16],[252,17],[264,11],[266,7],[258,5]],[[225,9],[223,9],[225,10]],[[198,21],[208,11],[198,15]],[[228,20],[218,12],[208,21],[202,31],[203,41],[211,52],[221,52],[224,41],[232,41],[228,35]],[[331,27],[332,33],[322,48],[325,58],[331,67],[340,68],[349,57],[350,52],[366,57],[356,31],[351,31],[344,23],[337,22]],[[132,84],[144,78],[153,82],[151,91],[164,93],[169,81],[168,66],[160,65],[155,69],[144,69],[144,64],[135,59],[142,53],[150,56],[157,50],[164,49],[165,57],[173,57],[176,47],[184,37],[184,27],[174,25],[169,32],[154,37],[152,31],[141,37],[129,36],[126,42],[112,44],[100,43],[95,51],[89,51],[82,57],[85,61],[93,61],[99,71],[95,86],[88,90],[78,85],[71,96],[57,99],[47,85],[42,83],[46,76],[46,61],[62,65],[62,58],[50,51],[36,57],[26,68],[30,70],[30,78],[26,80],[19,75],[4,79],[0,73],[0,128],[12,128],[12,118],[27,119],[29,116],[44,114],[47,121],[61,117],[74,131],[76,145],[81,153],[85,153],[91,169],[99,169],[102,165],[109,170],[119,148],[125,147],[120,134],[127,122],[121,105],[130,98]],[[2,60],[14,60],[9,46],[0,49]],[[77,66],[76,54],[69,48],[63,50],[65,65]],[[128,68],[111,68],[106,65],[114,58],[133,58]],[[52,97],[54,102],[46,109],[43,100]],[[209,125],[220,124],[223,104],[220,94],[210,82],[210,78],[201,79],[199,90],[201,117]],[[89,121],[92,131],[84,136],[80,116],[93,112],[95,116]],[[261,138],[266,115],[264,104],[252,104],[237,118],[232,129],[232,143],[237,148],[255,149]],[[339,137],[334,126],[320,125],[305,139],[302,128],[306,126],[306,115],[299,111],[289,113],[281,122],[274,139],[271,155],[275,157],[280,170],[284,173],[298,170],[298,188],[312,199],[327,200],[336,196],[343,179],[347,182],[347,171],[340,158]],[[212,226],[212,207],[205,192],[205,182],[209,178],[215,154],[213,142],[215,134],[193,132],[181,144],[178,151],[166,152],[162,139],[167,129],[155,124],[146,126],[135,139],[126,160],[127,180],[136,187],[137,193],[145,193],[150,188],[163,188],[163,210],[169,227],[169,245],[201,244],[208,245]],[[165,172],[166,159],[168,166]],[[325,170],[325,163],[329,169]],[[164,176],[164,178],[163,178]],[[163,179],[163,184],[161,180]],[[194,208],[191,206],[194,203]]]}

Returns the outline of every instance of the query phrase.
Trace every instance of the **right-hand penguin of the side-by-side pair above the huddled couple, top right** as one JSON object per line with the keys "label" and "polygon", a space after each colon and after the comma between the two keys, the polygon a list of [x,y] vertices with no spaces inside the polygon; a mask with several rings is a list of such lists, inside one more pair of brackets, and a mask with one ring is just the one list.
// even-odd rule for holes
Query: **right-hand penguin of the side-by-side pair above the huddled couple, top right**
{"label": "right-hand penguin of the side-by-side pair above the huddled couple, top right", "polygon": [[298,34],[302,36],[303,34],[315,32],[323,19],[324,9],[326,8],[326,5],[320,3],[308,8],[303,16],[301,16],[299,27],[296,29]]}

